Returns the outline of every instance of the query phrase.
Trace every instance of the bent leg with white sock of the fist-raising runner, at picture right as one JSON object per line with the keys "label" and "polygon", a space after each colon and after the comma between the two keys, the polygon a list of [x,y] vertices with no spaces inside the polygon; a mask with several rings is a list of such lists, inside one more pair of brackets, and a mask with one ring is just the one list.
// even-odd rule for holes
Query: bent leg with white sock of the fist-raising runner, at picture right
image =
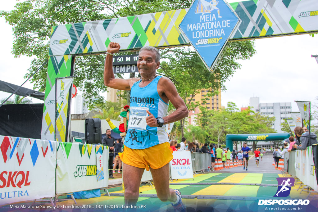
{"label": "bent leg with white sock of the fist-raising runner, at picture right", "polygon": [[162,202],[175,202],[177,200],[176,192],[172,188],[169,188],[169,163],[158,169],[150,168],[150,171],[157,197]]}

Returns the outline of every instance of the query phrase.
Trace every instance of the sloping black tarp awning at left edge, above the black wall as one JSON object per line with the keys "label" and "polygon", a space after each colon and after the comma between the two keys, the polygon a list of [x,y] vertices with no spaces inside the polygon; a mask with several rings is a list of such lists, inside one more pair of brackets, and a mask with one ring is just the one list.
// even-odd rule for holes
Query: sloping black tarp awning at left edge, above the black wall
{"label": "sloping black tarp awning at left edge, above the black wall", "polygon": [[[8,82],[4,82],[0,80],[0,91],[8,92],[8,93],[13,93],[15,90],[17,90],[20,86],[19,85],[14,85]],[[41,99],[44,100],[44,93],[33,91],[29,88],[24,88],[20,87],[15,93],[19,96],[30,96],[36,99]]]}

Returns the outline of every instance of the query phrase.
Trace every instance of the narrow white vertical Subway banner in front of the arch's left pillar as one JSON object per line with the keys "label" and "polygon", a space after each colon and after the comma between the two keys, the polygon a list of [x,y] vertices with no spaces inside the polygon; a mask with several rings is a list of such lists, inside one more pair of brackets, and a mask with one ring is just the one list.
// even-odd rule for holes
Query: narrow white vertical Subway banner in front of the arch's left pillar
{"label": "narrow white vertical Subway banner in front of the arch's left pillar", "polygon": [[72,94],[73,76],[55,79],[55,138],[57,141],[67,141],[69,133],[69,101]]}

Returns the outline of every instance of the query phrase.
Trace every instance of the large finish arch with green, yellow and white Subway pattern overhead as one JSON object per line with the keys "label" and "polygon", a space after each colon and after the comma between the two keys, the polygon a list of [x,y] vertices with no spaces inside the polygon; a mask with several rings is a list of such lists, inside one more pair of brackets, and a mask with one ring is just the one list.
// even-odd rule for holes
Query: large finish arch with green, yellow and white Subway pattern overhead
{"label": "large finish arch with green, yellow and white Subway pattern overhead", "polygon": [[[221,2],[223,1],[220,1],[220,4]],[[209,2],[204,0],[195,0],[193,3],[194,6],[200,6],[198,8],[201,8],[201,6],[203,8],[208,4]],[[234,31],[232,31],[231,35],[227,38],[222,33],[220,35],[223,37],[220,37],[220,35],[211,35],[206,39],[199,39],[200,42],[204,41],[203,44],[205,44],[205,41],[211,42],[211,44],[207,43],[207,45],[214,45],[216,38],[218,40],[220,38],[228,39],[230,42],[308,34],[318,31],[316,24],[318,20],[318,16],[316,15],[318,2],[316,0],[300,2],[269,1],[266,4],[264,4],[264,1],[250,0],[230,3],[228,6],[240,18],[238,25],[233,28]],[[211,8],[205,9],[210,10],[210,12],[212,11]],[[206,11],[201,10],[196,10],[189,14],[193,16],[202,15],[202,19],[200,19],[200,23],[201,20],[204,22],[202,24],[208,24],[211,21],[215,24],[219,23],[219,27],[216,27],[218,29],[213,30],[222,32],[222,27],[228,27],[226,20],[220,19],[218,21],[216,20],[217,16],[215,19],[213,18],[213,14],[210,20],[208,18],[210,17],[208,16],[209,14],[205,14]],[[54,104],[54,99],[56,97],[56,88],[62,87],[60,84],[56,85],[56,79],[74,75],[76,56],[106,53],[110,42],[119,42],[121,44],[121,51],[138,51],[145,45],[158,48],[189,46],[192,43],[198,42],[197,38],[194,39],[194,31],[205,33],[206,28],[201,29],[200,27],[200,29],[197,29],[197,27],[194,27],[200,23],[196,23],[195,25],[189,24],[187,29],[188,31],[190,30],[190,35],[192,34],[191,43],[190,39],[179,28],[188,11],[189,8],[185,8],[52,26],[41,139],[55,140],[56,138],[57,141],[69,140],[71,95],[69,94],[68,98],[63,101],[63,104],[59,105],[57,103]],[[213,10],[212,13],[215,15],[216,10]],[[223,26],[223,24],[225,25]],[[211,39],[208,41],[210,37]],[[218,55],[221,55],[221,53]],[[217,58],[212,54],[209,54],[209,56],[212,59]],[[69,90],[66,90],[66,93],[70,92]],[[55,125],[57,129],[54,128]]]}

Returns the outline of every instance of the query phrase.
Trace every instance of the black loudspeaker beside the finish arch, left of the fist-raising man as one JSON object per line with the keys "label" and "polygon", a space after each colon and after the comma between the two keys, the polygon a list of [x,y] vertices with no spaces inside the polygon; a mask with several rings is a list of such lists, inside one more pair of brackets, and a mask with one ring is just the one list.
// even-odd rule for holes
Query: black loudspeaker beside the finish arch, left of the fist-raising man
{"label": "black loudspeaker beside the finish arch, left of the fist-raising man", "polygon": [[101,143],[100,119],[85,119],[85,141],[87,144]]}

